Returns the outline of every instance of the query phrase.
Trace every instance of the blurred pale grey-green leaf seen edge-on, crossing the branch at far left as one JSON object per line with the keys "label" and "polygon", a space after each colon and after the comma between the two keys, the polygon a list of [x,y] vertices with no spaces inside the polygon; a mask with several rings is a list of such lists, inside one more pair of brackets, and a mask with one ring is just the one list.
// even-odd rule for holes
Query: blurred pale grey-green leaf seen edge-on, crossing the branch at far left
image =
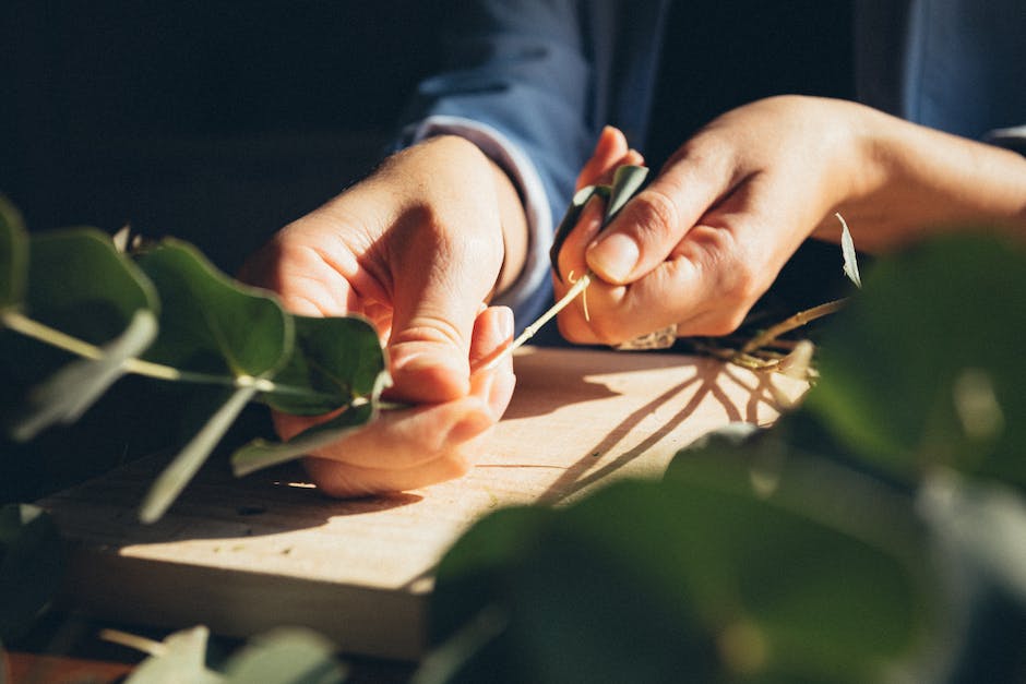
{"label": "blurred pale grey-green leaf seen edge-on, crossing the branch at far left", "polygon": [[150,310],[136,310],[124,332],[100,347],[98,359],[72,361],[31,389],[26,410],[10,432],[27,441],[55,423],[72,423],[126,373],[126,361],[141,355],[156,338],[157,321]]}

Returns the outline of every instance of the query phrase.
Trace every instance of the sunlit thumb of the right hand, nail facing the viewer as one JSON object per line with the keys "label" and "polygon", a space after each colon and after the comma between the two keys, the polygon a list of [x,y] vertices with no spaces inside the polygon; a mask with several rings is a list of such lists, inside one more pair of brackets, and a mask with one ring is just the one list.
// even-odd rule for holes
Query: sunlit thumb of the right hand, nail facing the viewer
{"label": "sunlit thumb of the right hand, nail facing the viewer", "polygon": [[588,266],[608,283],[636,280],[669,256],[733,182],[726,155],[685,148],[588,245]]}

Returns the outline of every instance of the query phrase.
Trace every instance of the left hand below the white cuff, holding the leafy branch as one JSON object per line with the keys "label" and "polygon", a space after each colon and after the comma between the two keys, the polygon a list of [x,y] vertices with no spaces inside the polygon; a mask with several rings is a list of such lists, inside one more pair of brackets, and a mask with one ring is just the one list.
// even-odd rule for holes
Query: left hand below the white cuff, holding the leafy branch
{"label": "left hand below the white cuff, holding the leafy branch", "polygon": [[[512,313],[484,302],[523,262],[517,221],[501,170],[470,143],[438,137],[287,226],[243,266],[240,278],[295,313],[371,320],[390,361],[390,398],[423,405],[390,411],[308,459],[324,491],[409,489],[466,469],[468,443],[499,420],[513,391],[510,363],[473,374],[470,364],[512,337]],[[274,416],[284,439],[324,419]]]}

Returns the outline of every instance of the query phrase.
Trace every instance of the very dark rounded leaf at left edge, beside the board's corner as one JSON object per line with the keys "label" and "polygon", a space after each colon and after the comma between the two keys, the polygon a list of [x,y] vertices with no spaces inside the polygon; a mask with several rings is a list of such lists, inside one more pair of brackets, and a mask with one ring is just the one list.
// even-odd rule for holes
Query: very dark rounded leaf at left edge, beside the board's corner
{"label": "very dark rounded leaf at left edge, beside the board's corner", "polygon": [[21,636],[57,596],[62,555],[46,512],[28,504],[0,508],[0,639]]}

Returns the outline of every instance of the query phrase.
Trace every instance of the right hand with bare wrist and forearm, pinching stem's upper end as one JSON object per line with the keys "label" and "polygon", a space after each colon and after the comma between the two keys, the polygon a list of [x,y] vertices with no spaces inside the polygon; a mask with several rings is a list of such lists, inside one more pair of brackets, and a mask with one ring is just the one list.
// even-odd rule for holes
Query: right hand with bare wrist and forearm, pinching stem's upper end
{"label": "right hand with bare wrist and forearm, pinching stem's upper end", "polygon": [[[600,140],[585,169],[616,159],[618,145]],[[854,103],[760,100],[684,143],[601,235],[600,207],[582,213],[560,267],[598,278],[589,319],[568,307],[560,329],[589,344],[673,324],[679,335],[728,334],[806,238],[839,239],[834,212],[872,252],[939,221],[1005,223],[1022,236],[1024,193],[1026,163],[1013,153]]]}

